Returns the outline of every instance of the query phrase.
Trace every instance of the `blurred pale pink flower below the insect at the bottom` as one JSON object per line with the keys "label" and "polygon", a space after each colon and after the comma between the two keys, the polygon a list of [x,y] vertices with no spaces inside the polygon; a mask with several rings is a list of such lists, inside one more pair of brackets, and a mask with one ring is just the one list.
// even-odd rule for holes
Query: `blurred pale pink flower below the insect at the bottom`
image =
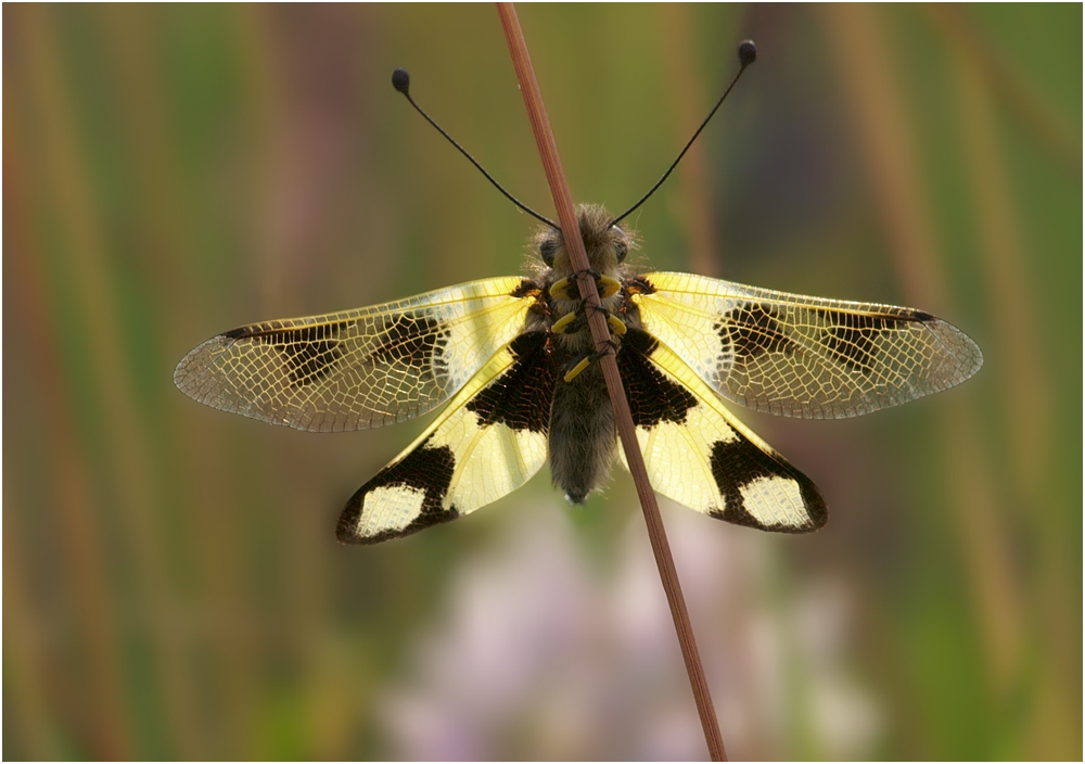
{"label": "blurred pale pink flower below the insect at the bottom", "polygon": [[[567,511],[583,511],[579,509]],[[671,545],[731,755],[869,755],[879,713],[847,668],[851,595],[786,582],[771,538],[671,506]],[[383,708],[397,755],[703,759],[706,749],[643,526],[612,570],[553,507],[523,506],[455,573]]]}

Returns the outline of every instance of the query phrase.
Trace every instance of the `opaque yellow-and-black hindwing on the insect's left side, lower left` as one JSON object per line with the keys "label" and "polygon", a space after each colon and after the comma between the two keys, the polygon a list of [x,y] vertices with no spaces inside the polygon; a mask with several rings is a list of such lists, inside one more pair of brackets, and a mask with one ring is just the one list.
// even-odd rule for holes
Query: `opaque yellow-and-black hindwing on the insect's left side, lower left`
{"label": "opaque yellow-and-black hindwing on the insect's left side, lower left", "polygon": [[546,461],[556,378],[545,332],[502,347],[429,430],[352,497],[339,539],[406,536],[526,483]]}

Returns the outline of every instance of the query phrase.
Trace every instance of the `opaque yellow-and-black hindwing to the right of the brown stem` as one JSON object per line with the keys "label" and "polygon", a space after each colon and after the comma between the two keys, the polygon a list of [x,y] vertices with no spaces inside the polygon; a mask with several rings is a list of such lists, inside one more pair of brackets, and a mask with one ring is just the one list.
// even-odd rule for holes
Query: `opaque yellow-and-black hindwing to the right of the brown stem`
{"label": "opaque yellow-and-black hindwing to the right of the brown stem", "polygon": [[817,486],[735,419],[666,346],[630,329],[618,368],[655,491],[762,531],[805,533],[825,525],[829,513]]}

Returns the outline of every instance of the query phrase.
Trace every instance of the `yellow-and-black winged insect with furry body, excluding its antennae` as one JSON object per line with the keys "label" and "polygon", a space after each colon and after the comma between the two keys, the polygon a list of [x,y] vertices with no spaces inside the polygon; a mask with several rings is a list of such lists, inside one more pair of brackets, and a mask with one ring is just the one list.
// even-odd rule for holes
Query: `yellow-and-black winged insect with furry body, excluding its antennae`
{"label": "yellow-and-black winged insect with furry body, excluding its antennae", "polygon": [[654,488],[765,531],[817,530],[825,502],[723,399],[852,417],[950,387],[982,364],[968,336],[920,310],[637,273],[624,262],[630,237],[605,211],[578,216],[601,306],[582,305],[561,231],[548,227],[532,277],[242,327],[189,353],[174,381],[209,406],[317,432],[382,426],[450,399],[347,502],[339,538],[368,544],[490,504],[548,456],[572,502],[604,483],[616,435],[586,310],[609,315]]}

